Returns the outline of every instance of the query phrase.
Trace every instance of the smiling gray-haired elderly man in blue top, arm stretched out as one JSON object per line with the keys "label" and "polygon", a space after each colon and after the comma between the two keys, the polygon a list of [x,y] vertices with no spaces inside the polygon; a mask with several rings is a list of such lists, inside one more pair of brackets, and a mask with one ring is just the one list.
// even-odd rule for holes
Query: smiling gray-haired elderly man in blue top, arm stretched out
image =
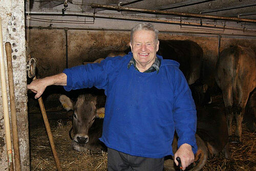
{"label": "smiling gray-haired elderly man in blue top, arm stretched out", "polygon": [[[103,133],[108,147],[108,170],[163,170],[164,156],[180,157],[183,170],[194,161],[196,109],[179,63],[156,55],[158,30],[141,23],[131,32],[132,52],[66,69],[63,73],[34,80],[28,89],[41,96],[47,86],[67,91],[104,89]],[[171,54],[170,54],[171,55]],[[178,151],[172,152],[174,132]]]}

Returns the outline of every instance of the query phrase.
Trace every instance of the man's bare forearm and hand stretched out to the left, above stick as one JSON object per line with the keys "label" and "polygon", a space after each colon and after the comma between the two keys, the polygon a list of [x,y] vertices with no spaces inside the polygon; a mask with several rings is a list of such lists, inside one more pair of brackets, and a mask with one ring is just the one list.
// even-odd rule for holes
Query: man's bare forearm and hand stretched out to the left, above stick
{"label": "man's bare forearm and hand stretched out to the left, above stick", "polygon": [[35,98],[39,98],[48,86],[67,86],[67,75],[65,73],[56,74],[53,76],[35,79],[27,88],[36,93]]}

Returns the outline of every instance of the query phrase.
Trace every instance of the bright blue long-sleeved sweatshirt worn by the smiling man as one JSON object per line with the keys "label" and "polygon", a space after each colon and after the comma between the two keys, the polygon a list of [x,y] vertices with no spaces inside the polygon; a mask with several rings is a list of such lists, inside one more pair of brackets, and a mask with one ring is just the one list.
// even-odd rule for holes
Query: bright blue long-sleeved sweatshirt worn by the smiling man
{"label": "bright blue long-sleeved sweatshirt worn by the smiling man", "polygon": [[196,107],[187,81],[174,60],[161,60],[159,73],[127,69],[133,54],[106,58],[63,71],[67,91],[104,89],[106,95],[103,133],[108,147],[132,156],[162,158],[174,155],[176,130],[178,147],[192,146],[196,153]]}

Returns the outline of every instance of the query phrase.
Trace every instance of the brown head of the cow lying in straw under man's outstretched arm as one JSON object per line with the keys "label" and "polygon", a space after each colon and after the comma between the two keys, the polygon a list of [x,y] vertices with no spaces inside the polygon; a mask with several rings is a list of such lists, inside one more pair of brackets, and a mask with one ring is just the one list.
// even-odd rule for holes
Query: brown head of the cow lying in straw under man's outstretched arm
{"label": "brown head of the cow lying in straw under man's outstretched arm", "polygon": [[88,132],[95,120],[95,117],[97,116],[96,99],[97,98],[91,94],[80,95],[76,102],[73,102],[66,95],[61,95],[59,97],[59,101],[61,102],[63,108],[65,108],[67,111],[74,111],[74,138],[72,141],[72,148],[76,151],[80,152],[86,143],[89,142]]}

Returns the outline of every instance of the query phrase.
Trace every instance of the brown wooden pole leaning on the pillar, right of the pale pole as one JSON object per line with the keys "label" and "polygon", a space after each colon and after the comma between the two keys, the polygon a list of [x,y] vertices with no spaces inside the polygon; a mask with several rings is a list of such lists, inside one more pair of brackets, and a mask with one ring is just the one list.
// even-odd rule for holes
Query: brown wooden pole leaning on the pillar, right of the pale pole
{"label": "brown wooden pole leaning on the pillar, right of the pale pole", "polygon": [[12,69],[12,47],[10,42],[5,44],[7,68],[8,68],[8,80],[9,80],[9,92],[10,92],[10,108],[11,108],[11,122],[12,122],[12,143],[14,149],[14,166],[15,171],[22,170],[20,165],[19,145],[18,145],[18,127],[16,116],[16,103],[13,83],[13,69]]}

